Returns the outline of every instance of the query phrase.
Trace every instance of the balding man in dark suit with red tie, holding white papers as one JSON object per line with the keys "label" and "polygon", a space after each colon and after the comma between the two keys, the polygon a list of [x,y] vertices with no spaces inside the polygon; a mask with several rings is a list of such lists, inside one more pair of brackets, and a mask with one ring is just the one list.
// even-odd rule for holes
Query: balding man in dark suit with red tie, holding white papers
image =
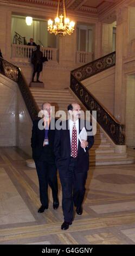
{"label": "balding man in dark suit with red tie, holding white papers", "polygon": [[[68,106],[69,119],[62,124],[62,129],[55,132],[54,153],[56,166],[59,169],[62,185],[62,208],[64,222],[61,229],[66,230],[73,221],[73,203],[76,213],[82,214],[82,202],[85,196],[85,183],[89,168],[88,150],[94,143],[92,135],[87,141],[79,141],[79,133],[83,127],[80,125],[81,108],[78,103]],[[86,122],[84,123],[86,131]],[[90,127],[92,130],[92,126]],[[85,149],[85,150],[84,150]]]}

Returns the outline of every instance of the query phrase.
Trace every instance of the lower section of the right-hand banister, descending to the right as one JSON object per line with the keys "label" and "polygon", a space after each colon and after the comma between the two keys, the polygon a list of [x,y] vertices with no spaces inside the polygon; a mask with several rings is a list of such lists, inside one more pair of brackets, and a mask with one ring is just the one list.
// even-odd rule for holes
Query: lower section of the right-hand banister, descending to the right
{"label": "lower section of the right-hand banister, descending to the right", "polygon": [[97,121],[112,141],[117,145],[125,144],[124,125],[120,124],[101,103],[83,86],[83,84],[70,74],[70,88],[89,111],[97,111]]}

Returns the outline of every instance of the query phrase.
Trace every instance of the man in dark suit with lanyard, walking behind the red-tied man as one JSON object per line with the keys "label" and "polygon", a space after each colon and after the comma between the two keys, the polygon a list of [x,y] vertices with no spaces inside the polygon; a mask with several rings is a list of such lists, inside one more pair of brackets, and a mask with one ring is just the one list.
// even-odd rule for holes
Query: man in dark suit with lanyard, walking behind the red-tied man
{"label": "man in dark suit with lanyard, walking behind the red-tied man", "polygon": [[31,147],[40,186],[41,207],[38,212],[48,209],[48,184],[52,188],[53,208],[59,207],[57,198],[57,168],[55,166],[54,137],[56,119],[51,117],[50,103],[43,103],[43,119],[33,122]]}

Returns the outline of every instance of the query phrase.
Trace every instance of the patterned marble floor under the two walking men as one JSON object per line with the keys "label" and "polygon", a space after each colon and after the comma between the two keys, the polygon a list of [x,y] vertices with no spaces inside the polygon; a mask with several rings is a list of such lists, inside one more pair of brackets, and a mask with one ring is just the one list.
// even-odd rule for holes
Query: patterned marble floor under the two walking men
{"label": "patterned marble floor under the two walking men", "polygon": [[60,207],[38,214],[36,169],[15,147],[0,148],[0,244],[87,245],[135,244],[135,164],[89,169],[83,214],[61,230]]}

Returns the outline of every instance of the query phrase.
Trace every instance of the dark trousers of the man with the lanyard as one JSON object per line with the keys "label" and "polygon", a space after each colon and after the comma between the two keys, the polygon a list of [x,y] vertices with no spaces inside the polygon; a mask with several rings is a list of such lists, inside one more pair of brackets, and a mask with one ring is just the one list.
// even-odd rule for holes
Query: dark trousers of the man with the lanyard
{"label": "dark trousers of the man with the lanyard", "polygon": [[57,200],[57,168],[53,161],[35,161],[40,186],[41,204],[48,208],[48,184],[52,188],[53,200]]}

